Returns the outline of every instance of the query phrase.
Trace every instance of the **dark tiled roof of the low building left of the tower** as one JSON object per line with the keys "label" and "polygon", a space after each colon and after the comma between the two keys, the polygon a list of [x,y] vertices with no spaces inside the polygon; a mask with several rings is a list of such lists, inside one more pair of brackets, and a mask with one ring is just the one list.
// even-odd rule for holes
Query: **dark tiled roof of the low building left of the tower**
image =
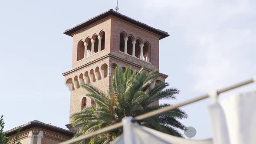
{"label": "dark tiled roof of the low building left of the tower", "polygon": [[16,131],[19,129],[19,128],[22,128],[21,131],[23,130],[26,130],[26,128],[46,128],[46,129],[51,129],[53,131],[57,131],[57,132],[60,132],[62,134],[66,134],[66,135],[69,135],[69,136],[73,136],[75,133],[72,132],[72,131],[69,131],[69,130],[66,130],[64,128],[59,128],[59,127],[56,127],[54,125],[51,125],[51,124],[46,124],[46,123],[43,123],[41,121],[37,121],[37,120],[34,120],[34,121],[30,121],[26,124],[23,124],[23,125],[20,125],[18,127],[15,127],[13,129],[10,129],[8,131],[6,131],[7,135],[12,135],[13,133],[16,133]]}

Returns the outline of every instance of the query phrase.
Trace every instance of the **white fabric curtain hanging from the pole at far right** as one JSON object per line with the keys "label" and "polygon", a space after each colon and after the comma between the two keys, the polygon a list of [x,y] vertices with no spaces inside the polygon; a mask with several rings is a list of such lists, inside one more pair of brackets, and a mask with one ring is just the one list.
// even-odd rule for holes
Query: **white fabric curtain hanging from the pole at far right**
{"label": "white fabric curtain hanging from the pole at far right", "polygon": [[234,95],[220,104],[210,105],[214,144],[256,144],[255,110],[256,91]]}

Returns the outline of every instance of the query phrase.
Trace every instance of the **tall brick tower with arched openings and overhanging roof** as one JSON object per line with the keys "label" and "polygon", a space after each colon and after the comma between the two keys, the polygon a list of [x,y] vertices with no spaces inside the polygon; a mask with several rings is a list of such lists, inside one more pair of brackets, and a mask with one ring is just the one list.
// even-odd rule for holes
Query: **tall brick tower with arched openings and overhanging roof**
{"label": "tall brick tower with arched openings and overhanging roof", "polygon": [[[83,82],[107,92],[116,65],[124,70],[144,67],[148,72],[159,69],[159,40],[168,33],[155,29],[112,9],[95,16],[64,34],[73,37],[72,69],[64,72],[65,85],[71,92],[69,115],[93,105],[85,97]],[[165,82],[167,75],[159,75],[155,83]],[[154,83],[154,84],[155,84]],[[72,130],[71,119],[67,128]]]}

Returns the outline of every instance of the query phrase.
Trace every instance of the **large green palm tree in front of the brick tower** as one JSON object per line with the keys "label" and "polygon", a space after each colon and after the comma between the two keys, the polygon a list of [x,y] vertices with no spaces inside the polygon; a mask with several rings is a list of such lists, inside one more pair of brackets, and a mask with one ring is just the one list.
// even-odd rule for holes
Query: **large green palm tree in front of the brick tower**
{"label": "large green palm tree in front of the brick tower", "polygon": [[[158,104],[159,100],[176,99],[179,90],[167,88],[168,83],[161,83],[151,88],[151,84],[158,78],[158,71],[131,72],[128,67],[125,72],[121,67],[115,68],[112,77],[112,89],[104,93],[94,86],[83,83],[81,86],[89,93],[86,96],[95,101],[96,107],[86,107],[72,115],[72,124],[78,130],[75,137],[88,134],[92,131],[121,122],[126,116],[138,116],[149,111],[163,108],[170,104]],[[187,118],[187,114],[180,109],[167,111],[161,115],[147,118],[138,123],[167,134],[182,137],[177,129],[183,130],[185,126],[178,119]],[[99,134],[82,143],[110,143],[122,133],[122,129]]]}

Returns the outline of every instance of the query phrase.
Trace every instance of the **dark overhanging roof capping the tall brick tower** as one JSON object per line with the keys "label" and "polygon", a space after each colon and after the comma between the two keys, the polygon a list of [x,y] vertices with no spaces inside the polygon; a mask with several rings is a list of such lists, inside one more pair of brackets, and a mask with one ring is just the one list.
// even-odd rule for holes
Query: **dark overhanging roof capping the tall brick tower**
{"label": "dark overhanging roof capping the tall brick tower", "polygon": [[132,24],[134,24],[136,26],[139,26],[139,27],[142,27],[144,29],[147,29],[148,31],[150,31],[152,33],[156,33],[156,34],[160,35],[161,36],[160,39],[163,39],[163,38],[169,36],[169,34],[167,32],[164,32],[164,31],[162,31],[160,29],[156,29],[154,27],[148,26],[145,23],[141,23],[138,20],[134,20],[134,19],[132,19],[132,18],[130,18],[128,16],[125,16],[125,15],[123,15],[121,13],[115,12],[112,9],[110,9],[110,10],[104,12],[104,13],[101,13],[98,16],[95,16],[92,19],[89,19],[89,20],[87,20],[87,21],[85,21],[83,23],[80,23],[80,24],[78,24],[78,25],[76,25],[76,26],[74,26],[74,27],[72,27],[70,29],[67,29],[64,32],[64,34],[66,34],[68,36],[72,36],[72,33],[75,33],[77,31],[79,31],[80,29],[85,28],[86,26],[89,26],[89,25],[91,25],[91,24],[93,24],[93,23],[95,23],[95,22],[97,22],[99,20],[102,20],[103,18],[105,18],[107,16],[115,16],[115,17],[118,17],[118,18],[120,18],[122,20],[125,20],[125,21],[129,22],[129,23],[132,23]]}

